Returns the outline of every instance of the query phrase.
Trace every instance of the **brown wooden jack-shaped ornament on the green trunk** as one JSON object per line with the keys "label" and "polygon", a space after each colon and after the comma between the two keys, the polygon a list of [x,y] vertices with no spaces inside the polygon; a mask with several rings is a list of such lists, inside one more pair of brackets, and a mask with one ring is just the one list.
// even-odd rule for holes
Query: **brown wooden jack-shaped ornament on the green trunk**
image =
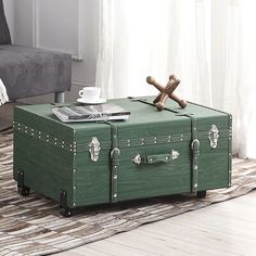
{"label": "brown wooden jack-shaped ornament on the green trunk", "polygon": [[164,110],[165,102],[168,98],[176,101],[182,108],[187,106],[187,102],[184,100],[179,99],[176,94],[174,94],[175,89],[180,84],[180,80],[177,79],[175,75],[169,76],[166,87],[159,85],[152,76],[146,77],[146,82],[153,85],[157,90],[161,91],[161,93],[153,101],[158,111]]}

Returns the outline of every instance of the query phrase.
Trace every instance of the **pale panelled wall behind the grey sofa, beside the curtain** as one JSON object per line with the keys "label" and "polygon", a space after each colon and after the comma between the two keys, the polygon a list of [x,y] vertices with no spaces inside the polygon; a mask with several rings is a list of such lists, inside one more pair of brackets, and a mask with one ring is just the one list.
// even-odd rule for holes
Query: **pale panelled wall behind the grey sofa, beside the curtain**
{"label": "pale panelled wall behind the grey sofa, beside the curtain", "polygon": [[[14,1],[13,5],[10,1]],[[71,9],[71,3],[75,4],[74,0],[65,0],[59,1],[60,10],[56,11],[56,4],[50,4],[49,1],[44,0],[5,0],[5,2],[10,2],[7,4],[8,9],[13,8],[13,30],[14,30],[14,43],[24,44],[24,46],[34,46],[35,42],[35,34],[34,34],[34,22],[35,18],[33,16],[33,3],[34,1],[38,1],[38,13],[39,13],[39,24],[37,26],[39,39],[38,44],[39,47],[49,48],[52,44],[53,49],[57,48],[60,44],[60,50],[63,50],[63,43],[65,41],[62,40],[69,40],[68,48],[77,47],[76,37],[77,33],[74,29],[78,29],[78,27],[74,27],[77,21],[77,12],[79,10],[75,10],[73,7]],[[44,1],[44,2],[43,2]],[[97,55],[98,55],[98,20],[99,20],[99,2],[98,0],[84,0],[84,60],[80,62],[73,62],[73,85],[78,86],[78,88],[82,86],[94,86],[95,82],[95,64],[97,64]],[[54,8],[54,10],[52,9]],[[77,5],[78,8],[78,5]],[[47,13],[47,15],[46,15]],[[59,15],[60,14],[60,15]],[[64,16],[65,24],[56,24],[59,22],[57,15],[61,18],[61,15],[71,15]],[[38,14],[37,14],[38,15]],[[9,13],[11,17],[12,14]],[[54,23],[54,18],[55,23]],[[63,16],[62,16],[63,18]],[[66,22],[68,21],[68,22]],[[62,23],[63,23],[62,22]],[[54,23],[54,24],[53,24]],[[51,25],[52,24],[52,25]],[[69,25],[68,25],[69,24]],[[59,27],[60,28],[59,28]],[[71,26],[71,27],[68,27]],[[77,25],[78,26],[78,25]],[[62,30],[59,30],[62,29]],[[59,37],[55,35],[59,34]],[[49,36],[50,40],[46,40],[44,35]],[[66,37],[66,38],[65,38]],[[57,41],[60,40],[61,41]],[[62,44],[62,46],[61,46]],[[64,43],[65,44],[65,43]],[[74,49],[76,51],[77,49]],[[75,88],[75,93],[77,92],[78,88]],[[74,95],[75,98],[76,95]]]}

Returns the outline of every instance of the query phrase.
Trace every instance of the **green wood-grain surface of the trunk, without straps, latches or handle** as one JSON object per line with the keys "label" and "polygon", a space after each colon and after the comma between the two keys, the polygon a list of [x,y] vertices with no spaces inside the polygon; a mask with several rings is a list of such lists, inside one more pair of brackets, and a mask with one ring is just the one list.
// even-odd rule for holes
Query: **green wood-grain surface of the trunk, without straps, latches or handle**
{"label": "green wood-grain surface of the trunk, without straps, latches or handle", "polygon": [[[153,98],[145,98],[152,102]],[[167,195],[191,191],[191,119],[169,111],[157,112],[154,106],[130,99],[112,102],[129,110],[130,118],[116,121],[118,146],[118,201]],[[14,178],[18,169],[25,171],[25,184],[59,201],[59,191],[67,192],[69,207],[111,202],[111,127],[106,124],[62,124],[51,113],[51,105],[18,106],[14,121],[23,124],[50,138],[76,143],[68,151],[14,129]],[[228,187],[230,183],[230,116],[190,103],[180,110],[168,101],[167,107],[197,118],[201,155],[199,190]],[[219,129],[217,149],[209,146],[208,130],[215,124]],[[90,159],[88,144],[92,137],[101,142],[100,158]],[[171,141],[167,142],[168,138]],[[156,143],[154,143],[156,138]],[[143,143],[142,143],[143,141]],[[73,149],[73,148],[71,148]],[[168,154],[179,157],[169,163],[141,164],[132,162],[136,154]]]}

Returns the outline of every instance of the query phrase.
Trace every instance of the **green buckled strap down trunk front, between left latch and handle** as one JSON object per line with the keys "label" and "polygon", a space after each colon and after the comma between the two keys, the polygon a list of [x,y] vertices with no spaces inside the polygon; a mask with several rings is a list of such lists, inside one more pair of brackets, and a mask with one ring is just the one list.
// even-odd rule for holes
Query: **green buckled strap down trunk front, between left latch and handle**
{"label": "green buckled strap down trunk front, between left latch and handle", "polygon": [[111,151],[111,202],[116,203],[118,201],[118,188],[117,188],[117,178],[118,178],[118,167],[119,167],[119,154],[120,150],[118,149],[118,137],[117,137],[117,127],[112,121],[105,121],[105,124],[111,126],[111,136],[112,136],[112,151]]}

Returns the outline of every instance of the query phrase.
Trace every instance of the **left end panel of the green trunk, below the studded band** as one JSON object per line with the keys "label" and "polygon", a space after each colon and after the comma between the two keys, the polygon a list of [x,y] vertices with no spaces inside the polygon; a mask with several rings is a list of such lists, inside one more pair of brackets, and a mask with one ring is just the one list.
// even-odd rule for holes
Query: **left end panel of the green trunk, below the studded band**
{"label": "left end panel of the green trunk, below the studded band", "polygon": [[68,191],[72,204],[73,155],[23,133],[14,132],[14,179],[23,170],[27,187],[54,200]]}

